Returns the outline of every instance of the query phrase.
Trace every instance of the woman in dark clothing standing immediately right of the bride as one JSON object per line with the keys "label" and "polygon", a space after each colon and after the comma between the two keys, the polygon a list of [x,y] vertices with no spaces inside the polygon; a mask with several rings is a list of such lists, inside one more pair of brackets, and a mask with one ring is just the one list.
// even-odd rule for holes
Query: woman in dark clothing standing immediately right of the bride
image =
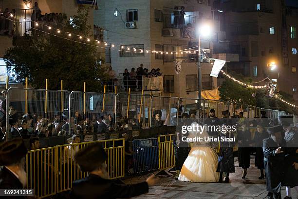
{"label": "woman in dark clothing standing immediately right of the bride", "polygon": [[[225,126],[226,124],[223,124]],[[223,129],[223,128],[222,128]],[[223,130],[220,134],[220,137],[231,137],[231,131],[227,132]],[[229,182],[229,174],[235,173],[235,164],[234,164],[234,156],[233,156],[233,147],[235,142],[230,141],[221,141],[220,142],[220,152],[218,156],[218,166],[217,172],[220,172],[219,182],[223,182],[223,172],[226,173],[224,182]]]}

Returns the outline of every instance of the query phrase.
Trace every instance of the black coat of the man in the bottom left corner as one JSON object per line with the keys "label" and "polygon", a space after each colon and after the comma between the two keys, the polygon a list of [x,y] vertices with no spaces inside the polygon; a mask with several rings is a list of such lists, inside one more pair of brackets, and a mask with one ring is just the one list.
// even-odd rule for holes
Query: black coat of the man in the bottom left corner
{"label": "black coat of the man in the bottom left corner", "polygon": [[[0,189],[23,189],[19,179],[5,166],[0,167]],[[12,199],[25,199],[25,197],[9,197]]]}

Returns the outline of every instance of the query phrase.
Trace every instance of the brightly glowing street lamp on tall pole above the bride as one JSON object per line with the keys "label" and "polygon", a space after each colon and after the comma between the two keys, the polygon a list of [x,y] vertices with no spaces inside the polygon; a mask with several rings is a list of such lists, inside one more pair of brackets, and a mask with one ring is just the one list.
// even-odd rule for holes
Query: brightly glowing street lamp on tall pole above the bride
{"label": "brightly glowing street lamp on tall pole above the bride", "polygon": [[202,91],[202,73],[201,73],[201,36],[208,37],[211,35],[211,26],[208,24],[201,24],[196,28],[198,37],[198,99],[201,99]]}

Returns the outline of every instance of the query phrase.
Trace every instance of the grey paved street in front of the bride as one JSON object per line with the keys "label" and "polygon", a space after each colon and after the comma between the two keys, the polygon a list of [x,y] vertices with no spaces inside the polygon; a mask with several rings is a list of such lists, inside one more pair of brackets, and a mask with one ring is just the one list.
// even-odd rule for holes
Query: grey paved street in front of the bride
{"label": "grey paved street in front of the bride", "polygon": [[[191,183],[176,181],[174,175],[161,178],[161,182],[149,188],[149,193],[135,197],[135,199],[263,199],[266,197],[265,179],[258,179],[260,171],[254,166],[254,156],[251,156],[251,168],[247,176],[242,179],[242,169],[238,167],[235,158],[235,173],[230,174],[231,183]],[[146,175],[148,176],[148,175]],[[143,178],[127,179],[126,183],[134,183]],[[297,193],[292,190],[293,199]],[[281,191],[285,196],[285,187]]]}

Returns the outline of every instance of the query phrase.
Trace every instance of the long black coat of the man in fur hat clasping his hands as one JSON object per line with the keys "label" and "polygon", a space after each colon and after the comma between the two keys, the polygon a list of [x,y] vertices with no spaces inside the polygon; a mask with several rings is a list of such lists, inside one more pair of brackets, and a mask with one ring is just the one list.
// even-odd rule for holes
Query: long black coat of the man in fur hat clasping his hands
{"label": "long black coat of the man in fur hat clasping his hands", "polygon": [[[276,154],[278,147],[285,147],[286,141],[283,139],[278,145],[272,138],[263,140],[264,166],[266,174],[267,191],[271,193],[279,193],[281,180],[283,179],[284,157],[285,152]],[[285,151],[285,148],[282,148]]]}

